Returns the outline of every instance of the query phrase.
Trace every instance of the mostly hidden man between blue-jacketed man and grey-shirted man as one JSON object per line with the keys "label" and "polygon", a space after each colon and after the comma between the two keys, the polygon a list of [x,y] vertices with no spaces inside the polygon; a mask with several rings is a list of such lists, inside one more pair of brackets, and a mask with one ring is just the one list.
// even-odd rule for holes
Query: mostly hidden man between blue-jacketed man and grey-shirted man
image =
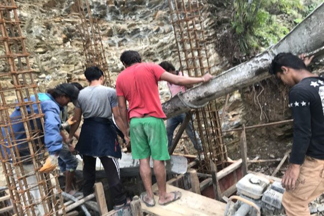
{"label": "mostly hidden man between blue-jacketed man and grey-shirted man", "polygon": [[[79,83],[71,83],[73,86],[75,86],[79,91],[83,89],[82,85]],[[68,118],[67,113],[67,106],[64,106],[63,109],[60,112],[60,119],[61,119],[61,125],[60,125],[60,133],[63,138],[63,147],[60,152],[60,156],[58,158],[58,164],[60,171],[64,173],[65,176],[65,193],[69,193],[70,195],[75,194],[75,190],[72,190],[72,182],[73,182],[73,176],[74,171],[77,167],[78,161],[76,157],[72,154],[74,152],[74,147],[72,146],[72,143],[66,143],[67,136],[64,133],[64,130],[68,133],[70,132],[70,126],[75,123],[75,121],[72,121],[73,117]],[[76,139],[79,138],[78,133],[74,133],[74,137]],[[61,158],[64,157],[64,158]]]}

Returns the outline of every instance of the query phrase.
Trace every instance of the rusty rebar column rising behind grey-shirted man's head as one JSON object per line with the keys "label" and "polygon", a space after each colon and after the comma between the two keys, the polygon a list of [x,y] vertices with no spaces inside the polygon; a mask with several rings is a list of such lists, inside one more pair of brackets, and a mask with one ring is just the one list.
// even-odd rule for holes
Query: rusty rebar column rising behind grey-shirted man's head
{"label": "rusty rebar column rising behind grey-shirted man's head", "polygon": [[77,7],[79,11],[78,16],[81,20],[79,23],[79,30],[83,42],[84,54],[86,56],[85,66],[98,66],[104,73],[104,84],[111,87],[112,82],[101,40],[98,20],[97,18],[93,19],[88,0],[77,0]]}

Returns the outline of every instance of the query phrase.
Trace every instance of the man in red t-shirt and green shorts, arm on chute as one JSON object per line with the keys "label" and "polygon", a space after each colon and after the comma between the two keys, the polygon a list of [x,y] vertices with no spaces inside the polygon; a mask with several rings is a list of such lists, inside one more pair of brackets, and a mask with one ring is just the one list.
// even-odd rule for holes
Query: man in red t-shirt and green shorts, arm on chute
{"label": "man in red t-shirt and green shorts, arm on chute", "polygon": [[[159,191],[160,205],[169,204],[180,199],[181,193],[166,190],[165,160],[169,160],[168,138],[163,119],[166,118],[159,100],[157,82],[167,81],[177,85],[191,85],[207,82],[212,79],[210,74],[199,78],[179,77],[168,73],[153,63],[141,63],[142,59],[136,51],[125,51],[120,61],[126,67],[116,80],[116,91],[120,117],[127,130],[130,131],[133,159],[140,160],[140,174],[146,192],[141,199],[147,206],[154,206],[152,192],[150,157]],[[127,113],[127,104],[129,110]],[[129,124],[130,120],[130,124]]]}

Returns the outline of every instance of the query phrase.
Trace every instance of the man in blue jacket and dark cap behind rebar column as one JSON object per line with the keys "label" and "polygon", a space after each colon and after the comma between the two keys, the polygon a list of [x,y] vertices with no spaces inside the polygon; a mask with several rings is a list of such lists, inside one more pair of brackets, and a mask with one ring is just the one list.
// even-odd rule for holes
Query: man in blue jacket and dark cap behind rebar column
{"label": "man in blue jacket and dark cap behind rebar column", "polygon": [[[50,89],[47,93],[38,93],[38,99],[41,101],[41,109],[44,114],[45,120],[45,128],[44,128],[44,143],[50,154],[47,158],[44,166],[39,170],[41,172],[48,172],[55,169],[57,165],[57,158],[60,156],[62,150],[62,136],[60,135],[60,109],[63,106],[67,105],[69,102],[76,102],[79,90],[71,85],[71,84],[61,84],[55,87],[54,89]],[[32,101],[36,101],[34,95],[31,96]],[[27,100],[26,100],[27,101]],[[39,113],[37,104],[34,103],[32,105],[34,113]],[[27,106],[27,112],[30,114],[30,107]],[[14,132],[15,140],[25,140],[26,133],[24,129],[24,125],[21,120],[21,113],[19,107],[15,109],[15,111],[10,116],[12,122],[14,123],[12,126]],[[37,127],[42,128],[41,121],[38,119],[36,121]],[[30,121],[30,125],[33,127],[33,122]],[[33,129],[33,128],[31,128]],[[2,133],[5,136],[5,128],[2,128]],[[5,140],[6,141],[6,140]],[[35,140],[36,141],[36,140]],[[5,151],[4,149],[2,149]],[[33,188],[30,190],[30,194],[33,199],[33,203],[38,203],[35,206],[35,212],[37,215],[44,215],[44,208],[41,204],[41,194],[39,193],[38,187],[36,187],[39,183],[37,183],[36,176],[33,175],[35,172],[33,165],[31,164],[30,152],[28,148],[28,143],[24,142],[18,145],[19,155],[21,160],[24,160],[23,168],[25,170],[25,174],[29,175],[27,179],[26,188]],[[64,159],[64,157],[62,157]]]}

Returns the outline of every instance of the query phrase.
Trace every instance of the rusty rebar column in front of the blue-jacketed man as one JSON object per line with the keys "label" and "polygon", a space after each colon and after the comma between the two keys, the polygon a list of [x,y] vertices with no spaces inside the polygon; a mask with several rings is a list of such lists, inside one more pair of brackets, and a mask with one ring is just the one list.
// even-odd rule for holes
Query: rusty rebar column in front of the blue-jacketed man
{"label": "rusty rebar column in front of the blue-jacketed man", "polygon": [[[44,211],[43,215],[58,215],[61,206],[65,214],[58,172],[38,172],[47,154],[42,129],[45,122],[24,40],[14,0],[0,0],[0,160],[3,173],[16,215],[36,215],[39,209]],[[31,99],[33,95],[35,101]],[[21,116],[10,118],[14,110],[19,110]],[[15,137],[18,134],[13,128],[18,124],[23,125],[26,138]]]}

